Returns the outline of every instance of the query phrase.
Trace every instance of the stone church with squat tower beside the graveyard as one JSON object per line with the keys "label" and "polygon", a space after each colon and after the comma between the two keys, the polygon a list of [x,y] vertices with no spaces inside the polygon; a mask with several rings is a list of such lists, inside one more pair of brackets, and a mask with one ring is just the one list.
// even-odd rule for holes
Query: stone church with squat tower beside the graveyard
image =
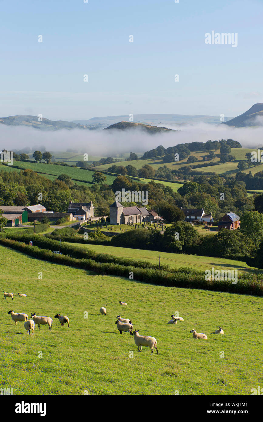
{"label": "stone church with squat tower beside the graveyard", "polygon": [[152,221],[158,217],[154,211],[148,211],[146,207],[123,207],[118,201],[110,205],[110,224],[140,224],[144,221]]}

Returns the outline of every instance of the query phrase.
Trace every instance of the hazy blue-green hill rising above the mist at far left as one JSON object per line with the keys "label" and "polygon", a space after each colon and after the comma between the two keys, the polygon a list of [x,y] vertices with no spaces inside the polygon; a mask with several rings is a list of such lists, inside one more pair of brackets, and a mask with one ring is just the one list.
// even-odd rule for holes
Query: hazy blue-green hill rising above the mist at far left
{"label": "hazy blue-green hill rising above the mist at far left", "polygon": [[59,130],[59,129],[87,129],[80,123],[66,122],[64,120],[49,120],[43,117],[42,122],[38,121],[38,116],[8,116],[0,117],[0,123],[8,126],[29,126],[40,130]]}

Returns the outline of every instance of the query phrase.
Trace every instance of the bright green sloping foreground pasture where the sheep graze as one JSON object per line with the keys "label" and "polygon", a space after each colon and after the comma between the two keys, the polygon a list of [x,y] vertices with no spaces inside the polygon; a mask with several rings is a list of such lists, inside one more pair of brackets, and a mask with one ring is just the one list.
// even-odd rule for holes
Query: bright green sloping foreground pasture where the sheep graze
{"label": "bright green sloping foreground pasture where the sheep graze", "polygon": [[[27,294],[0,299],[0,386],[14,394],[250,395],[262,381],[262,298],[98,276],[3,246],[0,256],[13,263],[3,266],[2,289]],[[36,326],[29,336],[10,309],[51,316],[53,329]],[[177,311],[184,322],[167,325]],[[61,327],[56,313],[67,315],[70,327]],[[141,335],[153,335],[159,354],[139,352],[129,333],[120,335],[118,314],[131,318]],[[218,326],[224,335],[211,334]],[[193,339],[192,328],[208,340]]]}

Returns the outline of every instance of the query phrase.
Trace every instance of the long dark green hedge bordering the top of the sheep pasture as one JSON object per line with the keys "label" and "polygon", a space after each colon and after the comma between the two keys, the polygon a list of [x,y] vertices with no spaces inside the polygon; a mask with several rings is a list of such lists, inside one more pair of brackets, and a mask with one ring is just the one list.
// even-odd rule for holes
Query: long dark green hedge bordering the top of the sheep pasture
{"label": "long dark green hedge bordering the top of the sheep pasture", "polygon": [[[129,280],[129,274],[133,272],[133,279],[143,281],[144,283],[157,284],[167,287],[184,287],[191,289],[210,289],[220,292],[231,292],[239,294],[248,294],[255,296],[263,295],[263,283],[256,280],[255,276],[247,279],[240,276],[237,284],[231,281],[206,281],[204,273],[185,273],[183,271],[169,272],[156,271],[153,268],[139,268],[133,265],[119,265],[113,262],[97,262],[92,259],[78,259],[69,255],[54,254],[49,249],[40,249],[38,246],[30,246],[21,241],[15,241],[8,238],[0,238],[0,244],[16,249],[39,260],[47,260],[62,265],[82,268],[89,271],[103,273],[105,275],[114,275],[126,277]],[[179,270],[179,269],[178,269]],[[188,269],[189,270],[189,269]]]}

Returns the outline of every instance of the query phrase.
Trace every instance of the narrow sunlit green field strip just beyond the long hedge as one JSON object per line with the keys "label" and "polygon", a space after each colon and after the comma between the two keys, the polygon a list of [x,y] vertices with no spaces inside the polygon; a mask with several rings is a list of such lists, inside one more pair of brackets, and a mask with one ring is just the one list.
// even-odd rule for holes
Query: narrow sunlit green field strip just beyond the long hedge
{"label": "narrow sunlit green field strip just beyond the long hedge", "polygon": [[[72,246],[76,246],[76,243],[69,243]],[[77,246],[82,248],[91,249],[95,252],[102,252],[104,254],[114,255],[116,257],[141,259],[155,264],[158,263],[158,254],[161,257],[161,264],[170,265],[171,267],[189,267],[195,268],[196,270],[207,270],[214,267],[215,269],[236,269],[241,273],[255,271],[260,273],[260,270],[247,265],[242,261],[228,260],[225,258],[214,258],[214,257],[202,257],[198,255],[184,255],[184,254],[173,254],[169,252],[158,252],[148,251],[145,249],[132,249],[132,248],[121,248],[117,246],[104,246],[104,245],[86,245],[85,243],[78,243]]]}

